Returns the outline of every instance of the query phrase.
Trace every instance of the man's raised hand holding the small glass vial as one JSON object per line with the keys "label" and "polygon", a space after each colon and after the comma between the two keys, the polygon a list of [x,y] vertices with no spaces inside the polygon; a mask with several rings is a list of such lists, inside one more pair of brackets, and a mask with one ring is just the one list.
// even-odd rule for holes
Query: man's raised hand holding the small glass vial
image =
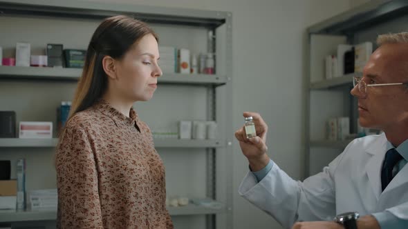
{"label": "man's raised hand holding the small glass vial", "polygon": [[257,137],[246,138],[245,126],[235,132],[235,137],[239,141],[239,146],[243,155],[247,157],[252,171],[259,171],[269,163],[269,157],[266,155],[268,147],[266,146],[266,134],[268,126],[263,121],[261,115],[254,112],[243,112],[243,117],[252,116]]}

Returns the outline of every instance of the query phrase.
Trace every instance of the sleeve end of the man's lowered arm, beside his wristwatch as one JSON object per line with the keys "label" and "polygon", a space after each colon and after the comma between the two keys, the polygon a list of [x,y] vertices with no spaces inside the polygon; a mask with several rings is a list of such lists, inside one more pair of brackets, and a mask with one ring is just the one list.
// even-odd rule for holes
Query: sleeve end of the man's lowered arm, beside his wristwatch
{"label": "sleeve end of the man's lowered arm, beside his wristwatch", "polygon": [[408,202],[373,214],[381,229],[408,228]]}

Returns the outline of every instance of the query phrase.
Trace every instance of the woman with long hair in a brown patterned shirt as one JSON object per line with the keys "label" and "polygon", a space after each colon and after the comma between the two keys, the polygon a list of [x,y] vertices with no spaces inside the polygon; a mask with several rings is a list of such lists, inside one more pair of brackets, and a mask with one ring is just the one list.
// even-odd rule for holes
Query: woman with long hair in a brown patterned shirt
{"label": "woman with long hair in a brown patterned shirt", "polygon": [[110,17],[95,30],[57,147],[58,228],[173,228],[163,162],[132,108],[153,96],[158,59],[141,21]]}

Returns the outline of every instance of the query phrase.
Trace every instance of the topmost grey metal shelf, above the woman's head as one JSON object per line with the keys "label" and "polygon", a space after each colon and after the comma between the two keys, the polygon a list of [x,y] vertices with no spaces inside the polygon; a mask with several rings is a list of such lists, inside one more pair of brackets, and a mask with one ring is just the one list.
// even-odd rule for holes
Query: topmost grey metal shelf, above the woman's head
{"label": "topmost grey metal shelf, above the woman's head", "polygon": [[230,17],[230,12],[138,6],[134,4],[86,2],[12,0],[0,1],[0,12],[4,16],[33,15],[39,17],[62,17],[82,19],[104,19],[118,14],[136,17],[149,23],[176,24],[216,28]]}

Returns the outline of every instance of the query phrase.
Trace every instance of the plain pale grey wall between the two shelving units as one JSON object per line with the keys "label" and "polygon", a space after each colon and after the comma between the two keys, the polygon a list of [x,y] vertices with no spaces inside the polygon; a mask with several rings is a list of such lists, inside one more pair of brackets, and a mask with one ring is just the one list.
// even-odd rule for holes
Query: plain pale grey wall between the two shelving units
{"label": "plain pale grey wall between the two shelving units", "polygon": [[[92,0],[109,1],[109,0]],[[111,0],[110,2],[113,2]],[[115,0],[151,6],[232,12],[234,126],[245,110],[270,126],[270,155],[295,179],[303,176],[306,27],[347,10],[352,0]],[[233,135],[233,133],[231,133]],[[234,141],[234,188],[248,163]],[[234,192],[234,228],[280,228]]]}

